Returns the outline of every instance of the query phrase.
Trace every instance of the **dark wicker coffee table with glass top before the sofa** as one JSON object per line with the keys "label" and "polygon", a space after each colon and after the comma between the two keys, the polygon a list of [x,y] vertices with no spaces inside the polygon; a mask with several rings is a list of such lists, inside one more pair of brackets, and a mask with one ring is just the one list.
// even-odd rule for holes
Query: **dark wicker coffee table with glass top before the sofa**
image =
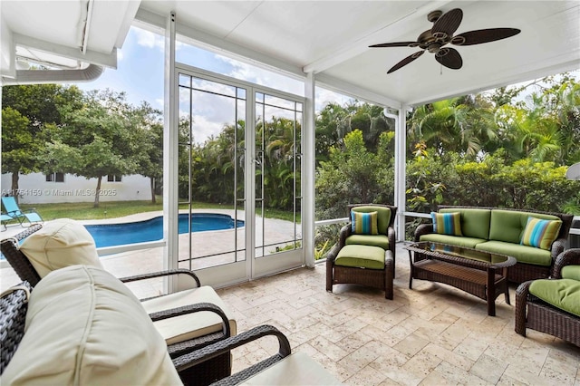
{"label": "dark wicker coffee table with glass top before the sofa", "polygon": [[[490,316],[496,315],[499,294],[505,294],[509,304],[507,268],[516,264],[514,257],[430,241],[403,248],[409,250],[410,289],[413,278],[452,285],[486,300]],[[414,261],[411,252],[415,253]]]}

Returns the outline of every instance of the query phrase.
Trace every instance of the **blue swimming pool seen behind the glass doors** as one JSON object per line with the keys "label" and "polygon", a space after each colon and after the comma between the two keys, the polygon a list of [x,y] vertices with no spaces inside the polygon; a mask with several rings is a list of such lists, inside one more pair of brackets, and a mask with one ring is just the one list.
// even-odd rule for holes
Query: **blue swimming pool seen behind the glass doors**
{"label": "blue swimming pool seen behind the glass doors", "polygon": [[[188,233],[188,214],[179,215],[179,234]],[[218,213],[194,213],[191,215],[191,232],[233,229],[234,219]],[[122,246],[125,244],[157,241],[163,238],[163,217],[153,217],[145,221],[122,224],[87,225],[97,248]],[[244,221],[237,220],[237,227],[244,227]]]}

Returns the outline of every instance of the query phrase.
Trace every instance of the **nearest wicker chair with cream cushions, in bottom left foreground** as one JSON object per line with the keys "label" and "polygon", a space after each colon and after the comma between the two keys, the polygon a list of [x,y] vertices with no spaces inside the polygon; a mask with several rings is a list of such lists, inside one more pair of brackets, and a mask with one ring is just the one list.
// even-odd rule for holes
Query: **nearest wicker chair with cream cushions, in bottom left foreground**
{"label": "nearest wicker chair with cream cushions, in bottom left foreground", "polygon": [[278,352],[213,384],[341,384],[304,352],[292,353],[271,325],[171,360],[140,301],[93,266],[53,271],[32,291],[26,282],[10,288],[0,297],[0,315],[2,384],[208,384],[216,380],[196,371],[201,364],[267,336],[278,339]]}

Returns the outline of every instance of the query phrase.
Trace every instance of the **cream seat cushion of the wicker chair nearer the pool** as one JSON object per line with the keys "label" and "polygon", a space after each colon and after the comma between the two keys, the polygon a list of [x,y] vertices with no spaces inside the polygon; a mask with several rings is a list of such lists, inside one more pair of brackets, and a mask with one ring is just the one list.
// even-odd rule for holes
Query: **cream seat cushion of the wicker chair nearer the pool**
{"label": "cream seat cushion of the wicker chair nearer the pool", "polygon": [[[216,291],[208,286],[166,294],[141,302],[148,314],[165,311],[189,304],[213,303],[226,314],[232,336],[237,334],[234,314]],[[185,314],[153,323],[167,344],[184,342],[189,339],[222,331],[222,320],[218,314],[200,312]]]}

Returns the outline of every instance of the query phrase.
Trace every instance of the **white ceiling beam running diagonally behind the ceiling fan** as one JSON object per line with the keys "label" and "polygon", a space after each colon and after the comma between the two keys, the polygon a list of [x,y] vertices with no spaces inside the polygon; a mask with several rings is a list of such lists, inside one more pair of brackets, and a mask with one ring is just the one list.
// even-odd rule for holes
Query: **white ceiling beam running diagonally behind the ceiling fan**
{"label": "white ceiling beam running diagonally behind the ceiling fan", "polygon": [[[369,49],[369,45],[382,43],[377,42],[377,39],[380,36],[384,36],[385,33],[389,33],[392,36],[398,36],[403,33],[407,26],[406,24],[409,23],[410,20],[414,18],[423,18],[426,14],[429,14],[431,11],[440,9],[441,7],[451,3],[451,1],[433,1],[429,2],[426,5],[421,5],[419,8],[415,8],[408,14],[400,17],[399,19],[395,20],[391,24],[384,25],[382,28],[372,32],[371,34],[367,34],[366,36],[358,39],[355,42],[348,43],[340,47],[339,49],[335,50],[333,53],[324,56],[323,58],[313,62],[306,64],[303,67],[303,71],[308,72],[324,72],[324,70],[328,70],[329,68],[343,63],[349,59],[352,59],[355,56],[364,53],[366,50]],[[379,36],[380,35],[380,36]]]}

